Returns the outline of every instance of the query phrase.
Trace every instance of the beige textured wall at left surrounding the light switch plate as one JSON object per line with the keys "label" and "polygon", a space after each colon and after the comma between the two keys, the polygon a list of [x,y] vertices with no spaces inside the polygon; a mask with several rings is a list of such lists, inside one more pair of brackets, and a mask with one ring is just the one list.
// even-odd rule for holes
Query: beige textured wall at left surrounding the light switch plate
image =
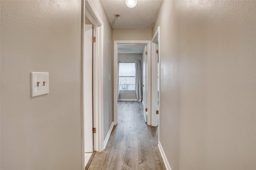
{"label": "beige textured wall at left surrounding the light switch plate", "polygon": [[[0,168],[82,169],[81,2],[0,3]],[[32,71],[49,94],[30,97]]]}

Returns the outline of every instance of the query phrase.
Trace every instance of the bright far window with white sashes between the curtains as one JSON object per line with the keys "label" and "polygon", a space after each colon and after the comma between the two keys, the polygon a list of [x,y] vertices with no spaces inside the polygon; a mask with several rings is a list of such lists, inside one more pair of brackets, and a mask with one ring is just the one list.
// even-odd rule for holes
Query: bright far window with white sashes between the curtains
{"label": "bright far window with white sashes between the curtains", "polygon": [[134,61],[120,61],[119,90],[135,91],[135,62]]}

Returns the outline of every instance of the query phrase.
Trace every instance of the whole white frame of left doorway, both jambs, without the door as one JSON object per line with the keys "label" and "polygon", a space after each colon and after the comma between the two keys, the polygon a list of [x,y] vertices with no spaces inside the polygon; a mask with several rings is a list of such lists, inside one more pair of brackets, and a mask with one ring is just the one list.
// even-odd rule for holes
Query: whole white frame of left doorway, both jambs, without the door
{"label": "whole white frame of left doorway, both jambs, without the door", "polygon": [[85,16],[94,26],[96,42],[93,49],[93,126],[96,133],[93,134],[93,149],[103,150],[103,33],[104,23],[100,18],[91,0],[82,0],[81,18],[81,140],[82,140],[82,170],[85,168],[84,162],[84,24]]}

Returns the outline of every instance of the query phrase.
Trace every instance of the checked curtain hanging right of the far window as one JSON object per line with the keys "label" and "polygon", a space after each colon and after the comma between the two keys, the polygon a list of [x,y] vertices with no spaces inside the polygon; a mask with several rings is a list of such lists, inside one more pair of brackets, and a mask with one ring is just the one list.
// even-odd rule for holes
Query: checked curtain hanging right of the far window
{"label": "checked curtain hanging right of the far window", "polygon": [[136,101],[142,101],[142,90],[141,90],[141,69],[140,60],[135,60],[135,91]]}

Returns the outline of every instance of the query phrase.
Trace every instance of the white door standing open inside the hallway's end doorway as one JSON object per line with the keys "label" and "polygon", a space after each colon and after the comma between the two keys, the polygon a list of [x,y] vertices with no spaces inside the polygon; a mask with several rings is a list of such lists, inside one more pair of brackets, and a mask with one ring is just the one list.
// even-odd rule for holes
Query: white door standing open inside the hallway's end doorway
{"label": "white door standing open inside the hallway's end doorway", "polygon": [[142,53],[142,65],[143,65],[143,73],[142,73],[142,101],[143,101],[143,114],[144,120],[147,122],[147,46],[145,45],[143,53]]}

